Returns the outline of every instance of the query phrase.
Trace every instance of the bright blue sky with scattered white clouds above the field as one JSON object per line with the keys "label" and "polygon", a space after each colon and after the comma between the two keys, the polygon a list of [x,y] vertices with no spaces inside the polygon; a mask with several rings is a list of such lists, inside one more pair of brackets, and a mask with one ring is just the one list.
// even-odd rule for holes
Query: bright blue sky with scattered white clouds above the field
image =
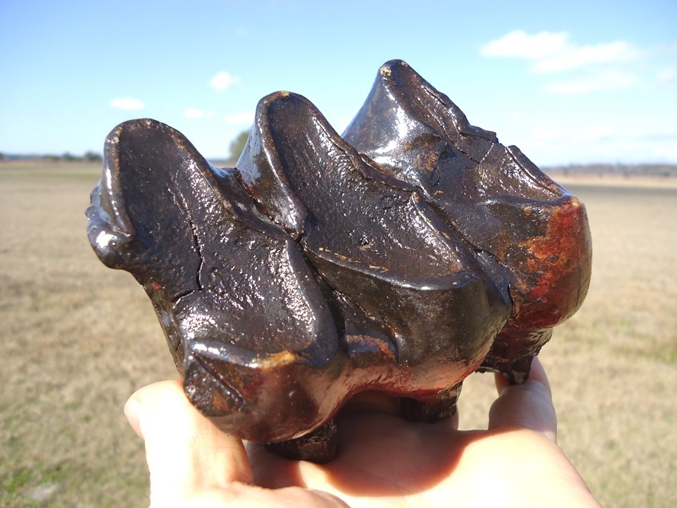
{"label": "bright blue sky with scattered white clouds above the field", "polygon": [[0,151],[101,151],[151,117],[229,154],[256,103],[341,132],[403,59],[536,164],[677,163],[676,1],[0,0]]}

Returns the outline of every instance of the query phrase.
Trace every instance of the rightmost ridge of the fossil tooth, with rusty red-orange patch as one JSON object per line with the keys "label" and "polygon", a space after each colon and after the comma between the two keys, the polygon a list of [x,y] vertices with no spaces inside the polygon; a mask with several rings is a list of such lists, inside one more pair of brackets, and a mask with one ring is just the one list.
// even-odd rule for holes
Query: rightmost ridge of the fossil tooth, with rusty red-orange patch
{"label": "rightmost ridge of the fossil tooth, with rusty red-orange patch", "polygon": [[581,201],[516,146],[471,126],[403,61],[381,67],[343,137],[382,171],[416,186],[458,236],[505,268],[488,267],[497,284],[507,284],[513,309],[484,367],[523,379],[590,283]]}

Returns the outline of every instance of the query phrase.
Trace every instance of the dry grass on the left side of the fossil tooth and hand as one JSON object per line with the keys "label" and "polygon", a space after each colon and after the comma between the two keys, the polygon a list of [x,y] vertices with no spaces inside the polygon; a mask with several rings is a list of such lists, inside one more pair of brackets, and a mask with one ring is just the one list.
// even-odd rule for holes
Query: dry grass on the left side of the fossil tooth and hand
{"label": "dry grass on the left side of the fossil tooth and hand", "polygon": [[0,506],[144,506],[143,447],[121,408],[176,377],[144,292],[84,234],[99,169],[0,169]]}

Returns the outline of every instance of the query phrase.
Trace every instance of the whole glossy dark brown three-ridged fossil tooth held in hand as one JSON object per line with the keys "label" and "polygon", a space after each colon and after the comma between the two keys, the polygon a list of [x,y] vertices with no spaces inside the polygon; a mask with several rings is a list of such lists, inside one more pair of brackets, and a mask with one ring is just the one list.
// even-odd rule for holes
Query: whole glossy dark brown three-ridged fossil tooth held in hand
{"label": "whole glossy dark brown three-ridged fossil tooth held in hand", "polygon": [[359,392],[434,421],[478,369],[521,382],[591,270],[581,202],[401,61],[343,136],[264,97],[235,168],[125,122],[91,203],[96,254],[143,284],[191,402],[320,462]]}

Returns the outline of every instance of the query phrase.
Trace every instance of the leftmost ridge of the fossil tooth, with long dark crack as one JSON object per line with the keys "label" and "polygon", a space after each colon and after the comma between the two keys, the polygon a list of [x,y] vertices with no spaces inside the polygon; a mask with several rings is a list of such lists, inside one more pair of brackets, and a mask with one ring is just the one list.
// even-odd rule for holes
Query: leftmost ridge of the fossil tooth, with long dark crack
{"label": "leftmost ridge of the fossil tooth, with long dark crack", "polygon": [[345,361],[299,245],[226,194],[229,175],[157,121],[111,133],[105,174],[88,209],[92,245],[144,285],[191,401],[250,439],[289,439],[323,423],[333,406],[279,411],[290,392],[297,407],[304,393],[323,399]]}

